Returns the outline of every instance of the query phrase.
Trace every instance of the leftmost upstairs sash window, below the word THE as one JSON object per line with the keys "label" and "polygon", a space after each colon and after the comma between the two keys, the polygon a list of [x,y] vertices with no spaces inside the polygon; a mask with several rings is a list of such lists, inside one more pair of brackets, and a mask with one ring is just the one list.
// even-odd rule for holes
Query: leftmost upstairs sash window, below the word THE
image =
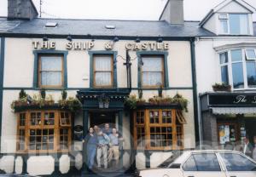
{"label": "leftmost upstairs sash window, below the word THE", "polygon": [[64,83],[63,56],[42,54],[38,60],[38,87],[62,88]]}

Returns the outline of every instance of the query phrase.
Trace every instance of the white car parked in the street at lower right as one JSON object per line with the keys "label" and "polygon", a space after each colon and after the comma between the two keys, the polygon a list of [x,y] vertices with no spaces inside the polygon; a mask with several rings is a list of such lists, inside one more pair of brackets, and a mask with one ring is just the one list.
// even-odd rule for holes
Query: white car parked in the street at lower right
{"label": "white car parked in the street at lower right", "polygon": [[184,151],[170,163],[140,170],[136,176],[256,177],[256,162],[239,151]]}

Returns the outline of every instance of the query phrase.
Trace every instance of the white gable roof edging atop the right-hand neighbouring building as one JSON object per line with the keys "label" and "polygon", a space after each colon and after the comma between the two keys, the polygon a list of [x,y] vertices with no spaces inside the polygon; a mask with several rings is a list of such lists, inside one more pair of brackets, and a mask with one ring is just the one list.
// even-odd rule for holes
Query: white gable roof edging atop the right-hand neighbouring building
{"label": "white gable roof edging atop the right-hand neighbouring building", "polygon": [[255,8],[251,6],[250,4],[246,3],[243,0],[224,0],[223,2],[219,3],[217,6],[215,6],[213,9],[210,10],[210,12],[201,20],[199,26],[203,26],[207,20],[209,20],[212,17],[212,14],[215,14],[218,12],[218,10],[223,9],[226,5],[231,3],[232,1],[239,3],[242,7],[249,10],[250,12],[255,12]]}

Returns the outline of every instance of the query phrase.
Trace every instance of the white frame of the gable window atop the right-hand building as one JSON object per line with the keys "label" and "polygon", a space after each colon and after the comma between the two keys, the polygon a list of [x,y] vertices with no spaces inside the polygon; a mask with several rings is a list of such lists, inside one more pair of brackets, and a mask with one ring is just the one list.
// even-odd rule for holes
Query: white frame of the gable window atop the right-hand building
{"label": "white frame of the gable window atop the right-hand building", "polygon": [[[227,15],[227,18],[220,18],[220,15],[222,14],[226,14]],[[219,13],[218,14],[218,32],[220,35],[250,35],[251,34],[251,25],[250,25],[250,18],[249,18],[249,14],[247,14],[247,34],[232,34],[230,33],[230,14],[247,14],[247,13]],[[226,20],[227,21],[227,26],[228,26],[228,32],[225,33],[223,32],[224,30],[222,29],[222,26],[221,26],[221,21],[222,20]]]}

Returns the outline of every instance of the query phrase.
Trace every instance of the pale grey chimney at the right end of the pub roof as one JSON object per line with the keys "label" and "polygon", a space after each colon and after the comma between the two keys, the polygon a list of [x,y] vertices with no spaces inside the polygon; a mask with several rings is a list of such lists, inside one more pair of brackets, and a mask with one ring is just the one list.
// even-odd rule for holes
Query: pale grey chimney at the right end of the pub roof
{"label": "pale grey chimney at the right end of the pub roof", "polygon": [[183,0],[168,0],[160,20],[166,20],[173,25],[182,25],[184,23]]}

